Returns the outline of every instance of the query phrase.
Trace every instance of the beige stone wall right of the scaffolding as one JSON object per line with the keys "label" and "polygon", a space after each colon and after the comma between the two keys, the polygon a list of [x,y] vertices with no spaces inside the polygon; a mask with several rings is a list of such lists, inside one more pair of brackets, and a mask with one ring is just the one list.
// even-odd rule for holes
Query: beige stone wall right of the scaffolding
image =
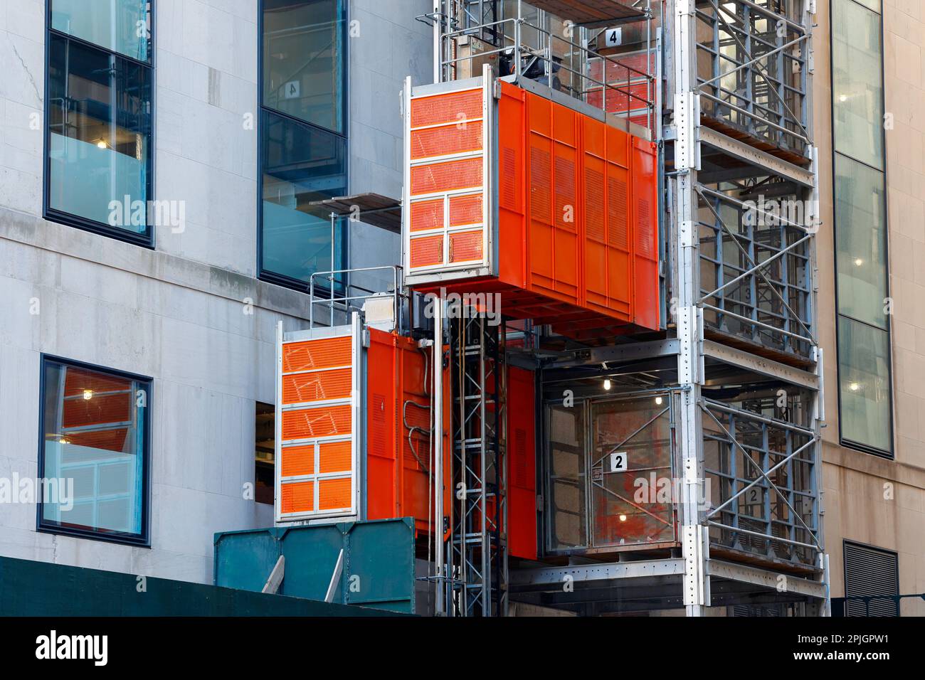
{"label": "beige stone wall right of the scaffolding", "polygon": [[[829,3],[813,34],[815,138],[824,224],[818,241],[820,341],[826,352],[823,491],[833,597],[845,594],[844,540],[899,554],[902,593],[925,592],[925,15],[918,0],[883,0],[895,461],[839,446],[835,345]],[[904,615],[925,614],[908,601]]]}

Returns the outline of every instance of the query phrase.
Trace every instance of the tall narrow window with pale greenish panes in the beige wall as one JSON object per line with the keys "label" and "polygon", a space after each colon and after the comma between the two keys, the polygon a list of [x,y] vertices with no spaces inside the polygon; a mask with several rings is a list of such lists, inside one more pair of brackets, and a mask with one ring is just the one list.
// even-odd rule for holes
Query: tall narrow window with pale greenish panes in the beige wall
{"label": "tall narrow window with pale greenish panes in the beige wall", "polygon": [[879,0],[832,0],[838,395],[845,446],[893,457]]}

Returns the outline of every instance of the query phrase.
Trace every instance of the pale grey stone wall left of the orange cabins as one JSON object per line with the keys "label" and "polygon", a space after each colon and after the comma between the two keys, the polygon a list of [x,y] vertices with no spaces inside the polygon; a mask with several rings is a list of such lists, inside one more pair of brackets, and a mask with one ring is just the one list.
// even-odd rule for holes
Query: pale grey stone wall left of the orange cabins
{"label": "pale grey stone wall left of the orange cabins", "polygon": [[[400,196],[398,92],[429,73],[427,9],[351,2],[352,192]],[[152,251],[43,220],[44,2],[0,6],[0,476],[37,474],[42,352],[154,378],[151,549],[38,533],[13,504],[0,556],[210,582],[214,532],[272,525],[243,498],[254,402],[274,401],[275,328],[306,328],[307,296],[254,278],[257,0],[155,11],[155,197],[185,201],[186,228]],[[364,262],[397,258],[386,237]]]}

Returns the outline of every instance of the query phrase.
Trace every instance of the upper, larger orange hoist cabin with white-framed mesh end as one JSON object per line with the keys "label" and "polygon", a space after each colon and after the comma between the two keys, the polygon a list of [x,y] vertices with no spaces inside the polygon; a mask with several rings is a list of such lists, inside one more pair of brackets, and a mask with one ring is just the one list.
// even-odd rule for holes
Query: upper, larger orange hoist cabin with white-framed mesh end
{"label": "upper, larger orange hoist cabin with white-framed mesh end", "polygon": [[[405,281],[585,338],[660,328],[657,147],[524,80],[405,87]],[[630,130],[639,132],[632,134]]]}

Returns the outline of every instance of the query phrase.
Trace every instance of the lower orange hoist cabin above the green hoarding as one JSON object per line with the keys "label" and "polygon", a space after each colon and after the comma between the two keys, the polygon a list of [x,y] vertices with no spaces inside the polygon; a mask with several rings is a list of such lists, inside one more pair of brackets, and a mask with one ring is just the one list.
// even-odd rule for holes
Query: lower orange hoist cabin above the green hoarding
{"label": "lower orange hoist cabin above the green hoarding", "polygon": [[277,523],[414,517],[429,532],[432,349],[357,314],[277,336]]}

